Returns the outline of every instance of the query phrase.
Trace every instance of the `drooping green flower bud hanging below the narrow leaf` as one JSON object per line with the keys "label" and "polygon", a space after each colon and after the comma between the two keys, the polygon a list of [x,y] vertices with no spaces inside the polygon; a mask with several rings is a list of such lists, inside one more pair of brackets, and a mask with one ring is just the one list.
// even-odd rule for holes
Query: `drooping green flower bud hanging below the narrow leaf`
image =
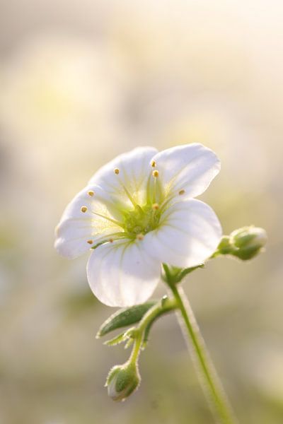
{"label": "drooping green flower bud hanging below the narrow leaf", "polygon": [[113,401],[125,401],[139,387],[140,381],[141,377],[137,364],[128,361],[124,365],[112,367],[105,386],[108,387],[108,396]]}

